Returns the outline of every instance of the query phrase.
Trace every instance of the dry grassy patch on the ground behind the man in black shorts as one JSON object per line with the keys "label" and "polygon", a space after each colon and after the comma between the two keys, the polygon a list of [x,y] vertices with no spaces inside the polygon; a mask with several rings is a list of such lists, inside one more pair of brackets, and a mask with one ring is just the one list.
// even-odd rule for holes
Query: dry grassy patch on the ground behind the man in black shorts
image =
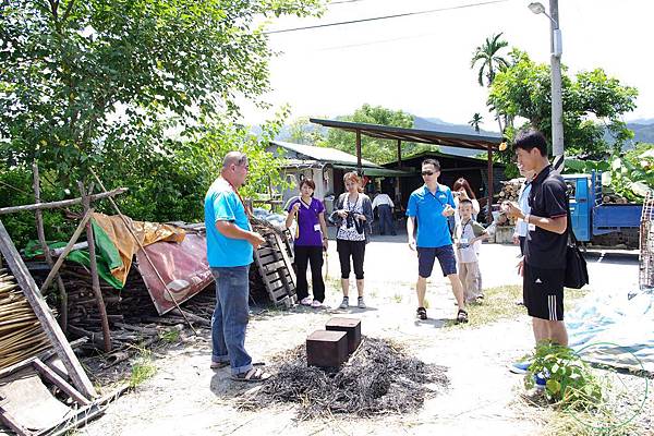
{"label": "dry grassy patch on the ground behind the man in black shorts", "polygon": [[[579,300],[586,293],[586,290],[566,288],[566,307],[573,307],[574,301]],[[516,304],[518,301],[522,301],[521,284],[508,284],[484,289],[484,300],[481,303],[468,304],[467,310],[470,316],[470,323],[455,324],[453,319],[448,319],[445,324],[445,327],[481,327],[486,324],[495,323],[499,319],[514,318],[517,316],[526,314],[524,306]]]}

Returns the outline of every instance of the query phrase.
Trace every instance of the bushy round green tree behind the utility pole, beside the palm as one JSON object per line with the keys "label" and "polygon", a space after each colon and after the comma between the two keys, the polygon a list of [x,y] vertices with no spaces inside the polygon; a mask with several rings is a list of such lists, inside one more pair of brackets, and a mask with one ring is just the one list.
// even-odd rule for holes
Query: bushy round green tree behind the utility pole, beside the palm
{"label": "bushy round green tree behind the utility pole, beside the palm", "polygon": [[[495,77],[488,105],[500,114],[522,117],[529,124],[552,137],[550,71],[536,64],[518,49],[511,51],[511,63]],[[564,100],[564,136],[568,155],[598,156],[608,145],[603,138],[604,128],[615,135],[614,148],[621,149],[633,133],[620,120],[635,108],[638,90],[606,75],[602,69],[580,72],[571,80],[561,72]],[[514,131],[505,135],[512,138]]]}

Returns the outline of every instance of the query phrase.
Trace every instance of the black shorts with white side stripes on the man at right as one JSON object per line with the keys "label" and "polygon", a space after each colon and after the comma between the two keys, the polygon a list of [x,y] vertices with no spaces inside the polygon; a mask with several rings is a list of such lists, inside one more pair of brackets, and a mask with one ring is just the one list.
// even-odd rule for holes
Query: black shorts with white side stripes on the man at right
{"label": "black shorts with white side stripes on the man at right", "polygon": [[529,316],[564,320],[564,269],[536,268],[524,264],[522,298]]}

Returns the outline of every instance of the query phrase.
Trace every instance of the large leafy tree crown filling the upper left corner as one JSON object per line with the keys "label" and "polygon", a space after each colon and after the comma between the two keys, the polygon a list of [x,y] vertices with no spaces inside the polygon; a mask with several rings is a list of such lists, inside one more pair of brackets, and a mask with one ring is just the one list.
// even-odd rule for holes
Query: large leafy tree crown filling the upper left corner
{"label": "large leafy tree crown filling the upper left corner", "polygon": [[38,159],[68,184],[107,155],[170,155],[170,129],[234,118],[268,88],[262,17],[318,12],[319,0],[4,1],[0,158]]}

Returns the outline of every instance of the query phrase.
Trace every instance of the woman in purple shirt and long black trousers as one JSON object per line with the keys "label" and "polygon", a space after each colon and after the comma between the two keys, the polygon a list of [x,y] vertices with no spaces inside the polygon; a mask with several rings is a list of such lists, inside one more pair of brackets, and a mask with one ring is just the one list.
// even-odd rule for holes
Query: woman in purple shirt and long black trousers
{"label": "woman in purple shirt and long black trousers", "polygon": [[[323,250],[327,250],[327,223],[325,222],[325,206],[313,197],[316,184],[311,179],[300,183],[300,197],[289,204],[287,229],[293,219],[298,220],[298,232],[293,249],[295,251],[295,267],[298,269],[298,299],[300,304],[312,307],[323,306],[325,301],[325,282],[323,281]],[[306,267],[311,263],[311,279],[313,283],[312,299],[308,296]]]}

